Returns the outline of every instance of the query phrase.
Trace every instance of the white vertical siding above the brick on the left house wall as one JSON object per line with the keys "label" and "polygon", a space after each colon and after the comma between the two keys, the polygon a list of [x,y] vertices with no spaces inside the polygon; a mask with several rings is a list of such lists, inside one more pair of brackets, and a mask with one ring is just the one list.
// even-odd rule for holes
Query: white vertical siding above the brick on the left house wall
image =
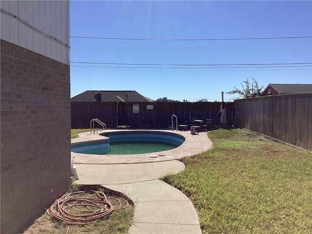
{"label": "white vertical siding above the brick on the left house wall", "polygon": [[69,64],[69,1],[1,0],[0,8],[1,39]]}

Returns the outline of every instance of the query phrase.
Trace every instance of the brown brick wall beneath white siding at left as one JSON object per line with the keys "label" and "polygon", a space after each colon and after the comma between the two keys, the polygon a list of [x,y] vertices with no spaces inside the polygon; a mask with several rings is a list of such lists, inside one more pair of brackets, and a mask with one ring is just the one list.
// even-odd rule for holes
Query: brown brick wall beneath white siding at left
{"label": "brown brick wall beneath white siding at left", "polygon": [[21,233],[70,183],[69,65],[1,40],[1,233]]}

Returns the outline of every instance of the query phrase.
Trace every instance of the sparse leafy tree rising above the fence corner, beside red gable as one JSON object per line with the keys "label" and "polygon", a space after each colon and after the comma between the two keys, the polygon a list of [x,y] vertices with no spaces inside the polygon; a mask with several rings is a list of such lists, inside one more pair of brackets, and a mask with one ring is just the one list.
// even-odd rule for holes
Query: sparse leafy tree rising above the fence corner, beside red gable
{"label": "sparse leafy tree rising above the fence corner, beside red gable", "polygon": [[239,90],[236,87],[234,87],[234,90],[226,92],[226,94],[239,94],[242,98],[255,98],[255,97],[259,97],[262,94],[262,89],[264,88],[263,86],[261,86],[259,88],[258,86],[258,82],[252,78],[254,81],[252,84],[249,83],[249,80],[247,78],[247,80],[244,80],[242,84],[243,90]]}

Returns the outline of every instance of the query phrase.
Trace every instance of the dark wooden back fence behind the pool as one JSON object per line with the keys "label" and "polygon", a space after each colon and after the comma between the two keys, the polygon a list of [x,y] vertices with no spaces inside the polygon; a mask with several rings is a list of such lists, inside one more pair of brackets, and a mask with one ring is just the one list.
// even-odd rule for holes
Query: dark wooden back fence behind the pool
{"label": "dark wooden back fence behind the pool", "polygon": [[[172,115],[178,125],[192,119],[213,119],[220,125],[221,102],[71,102],[71,127],[88,128],[90,120],[98,118],[107,126],[167,129],[172,125]],[[234,102],[226,105],[228,126],[234,125]],[[174,118],[176,125],[176,118]]]}

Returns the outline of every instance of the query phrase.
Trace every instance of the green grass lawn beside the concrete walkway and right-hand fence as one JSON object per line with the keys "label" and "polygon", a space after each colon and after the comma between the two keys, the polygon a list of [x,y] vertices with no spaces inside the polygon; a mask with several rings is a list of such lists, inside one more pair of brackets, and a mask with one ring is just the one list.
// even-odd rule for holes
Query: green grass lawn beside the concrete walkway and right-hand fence
{"label": "green grass lawn beside the concrete walkway and right-hand fence", "polygon": [[241,129],[208,136],[211,150],[162,178],[191,199],[203,234],[312,233],[311,152]]}

